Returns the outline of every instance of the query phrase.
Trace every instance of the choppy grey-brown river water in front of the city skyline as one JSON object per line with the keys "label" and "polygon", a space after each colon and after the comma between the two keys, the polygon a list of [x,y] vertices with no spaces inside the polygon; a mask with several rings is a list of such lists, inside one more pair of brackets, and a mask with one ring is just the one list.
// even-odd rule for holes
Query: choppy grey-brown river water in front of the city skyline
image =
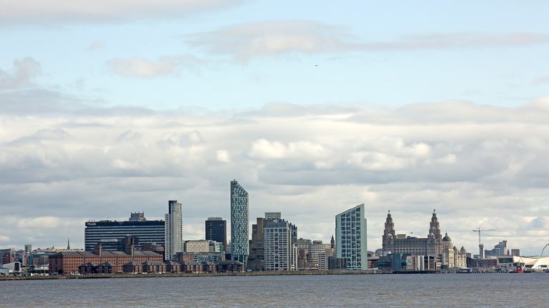
{"label": "choppy grey-brown river water in front of the city skyline", "polygon": [[0,307],[549,307],[549,274],[0,281]]}

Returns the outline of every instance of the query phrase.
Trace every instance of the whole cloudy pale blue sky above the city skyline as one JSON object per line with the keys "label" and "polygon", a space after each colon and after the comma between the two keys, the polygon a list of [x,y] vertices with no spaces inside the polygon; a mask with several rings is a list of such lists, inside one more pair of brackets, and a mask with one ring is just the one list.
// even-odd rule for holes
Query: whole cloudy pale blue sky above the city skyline
{"label": "whole cloudy pale blue sky above the city skyline", "polygon": [[184,238],[282,212],[329,240],[365,203],[454,244],[549,242],[547,1],[0,1],[0,247],[83,247],[87,220]]}

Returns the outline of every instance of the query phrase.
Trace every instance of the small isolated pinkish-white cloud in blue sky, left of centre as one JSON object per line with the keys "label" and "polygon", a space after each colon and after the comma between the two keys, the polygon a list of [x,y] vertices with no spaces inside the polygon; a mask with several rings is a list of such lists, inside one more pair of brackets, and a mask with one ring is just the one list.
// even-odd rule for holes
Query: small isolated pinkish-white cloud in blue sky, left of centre
{"label": "small isolated pinkish-white cloud in blue sky, left of centre", "polygon": [[194,56],[162,56],[157,61],[145,58],[116,58],[107,61],[112,73],[125,77],[150,78],[172,75],[180,68],[196,70],[200,61]]}

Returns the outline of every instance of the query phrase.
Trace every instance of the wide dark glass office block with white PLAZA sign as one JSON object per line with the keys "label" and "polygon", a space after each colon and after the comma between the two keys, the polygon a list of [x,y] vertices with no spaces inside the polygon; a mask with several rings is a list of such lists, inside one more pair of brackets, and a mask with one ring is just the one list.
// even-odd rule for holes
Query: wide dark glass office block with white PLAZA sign
{"label": "wide dark glass office block with white PLAZA sign", "polygon": [[[124,250],[124,239],[127,235],[134,237],[136,247],[153,242],[165,245],[164,221],[116,221],[99,220],[85,223],[84,249],[94,251],[95,245],[101,243],[103,250]],[[68,245],[69,243],[67,243]]]}

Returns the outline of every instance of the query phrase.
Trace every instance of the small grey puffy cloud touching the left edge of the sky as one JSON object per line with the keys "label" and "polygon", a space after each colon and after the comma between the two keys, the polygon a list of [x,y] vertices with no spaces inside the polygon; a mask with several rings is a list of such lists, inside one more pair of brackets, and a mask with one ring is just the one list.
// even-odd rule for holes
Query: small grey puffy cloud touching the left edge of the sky
{"label": "small grey puffy cloud touching the left edge of the sky", "polygon": [[34,58],[16,59],[11,71],[4,71],[0,68],[0,90],[29,86],[29,83],[39,75],[40,71],[40,63]]}

